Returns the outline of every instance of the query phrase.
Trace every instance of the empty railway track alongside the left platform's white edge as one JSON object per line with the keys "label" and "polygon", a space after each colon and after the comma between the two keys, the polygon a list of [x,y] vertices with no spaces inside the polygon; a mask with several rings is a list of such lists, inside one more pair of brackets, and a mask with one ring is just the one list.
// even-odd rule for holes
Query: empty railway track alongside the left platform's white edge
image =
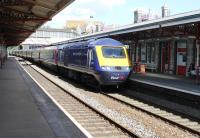
{"label": "empty railway track alongside the left platform's white edge", "polygon": [[37,83],[48,92],[48,95],[53,97],[88,132],[88,137],[140,137],[60,88],[29,66],[30,64],[25,62],[21,64],[28,74],[37,78]]}

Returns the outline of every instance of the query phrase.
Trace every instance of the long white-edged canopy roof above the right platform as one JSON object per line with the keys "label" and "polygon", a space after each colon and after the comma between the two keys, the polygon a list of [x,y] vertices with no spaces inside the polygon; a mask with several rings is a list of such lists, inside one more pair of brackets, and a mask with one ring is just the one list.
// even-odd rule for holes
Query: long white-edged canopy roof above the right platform
{"label": "long white-edged canopy roof above the right platform", "polygon": [[94,34],[81,36],[75,39],[68,40],[67,42],[88,40],[101,37],[110,37],[119,34],[134,33],[145,30],[159,29],[164,27],[171,27],[171,26],[178,26],[183,24],[189,24],[189,23],[191,24],[199,22],[200,22],[200,10],[196,10],[187,13],[168,16],[165,18],[149,20],[141,23],[129,24],[109,31],[101,31]]}

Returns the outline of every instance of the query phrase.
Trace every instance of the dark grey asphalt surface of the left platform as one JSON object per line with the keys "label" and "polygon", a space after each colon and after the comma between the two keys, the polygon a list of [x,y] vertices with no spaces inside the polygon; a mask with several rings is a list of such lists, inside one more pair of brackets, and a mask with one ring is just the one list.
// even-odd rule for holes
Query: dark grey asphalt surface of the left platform
{"label": "dark grey asphalt surface of the left platform", "polygon": [[0,69],[0,137],[68,138],[85,135],[42,92],[14,58]]}

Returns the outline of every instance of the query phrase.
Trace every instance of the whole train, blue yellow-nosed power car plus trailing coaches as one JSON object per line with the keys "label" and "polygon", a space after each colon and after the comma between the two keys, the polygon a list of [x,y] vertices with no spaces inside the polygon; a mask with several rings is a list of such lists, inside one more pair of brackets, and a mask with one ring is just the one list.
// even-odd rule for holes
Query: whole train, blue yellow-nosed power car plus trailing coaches
{"label": "whole train, blue yellow-nosed power car plus trailing coaches", "polygon": [[92,85],[118,86],[126,82],[132,71],[127,46],[112,38],[58,43],[12,54]]}

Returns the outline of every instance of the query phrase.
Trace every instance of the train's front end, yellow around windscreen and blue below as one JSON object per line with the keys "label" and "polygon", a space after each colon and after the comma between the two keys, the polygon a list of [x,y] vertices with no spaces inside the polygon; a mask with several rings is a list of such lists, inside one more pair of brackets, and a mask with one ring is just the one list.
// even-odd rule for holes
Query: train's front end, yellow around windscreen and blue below
{"label": "train's front end, yellow around windscreen and blue below", "polygon": [[[111,56],[106,56],[106,50]],[[122,52],[123,56],[114,53]],[[105,50],[105,51],[104,51]],[[112,51],[115,51],[112,53]],[[117,51],[117,52],[116,52]],[[125,46],[96,46],[97,59],[99,63],[98,72],[102,85],[119,85],[127,80],[131,72],[131,64]],[[107,55],[109,55],[107,53]]]}

